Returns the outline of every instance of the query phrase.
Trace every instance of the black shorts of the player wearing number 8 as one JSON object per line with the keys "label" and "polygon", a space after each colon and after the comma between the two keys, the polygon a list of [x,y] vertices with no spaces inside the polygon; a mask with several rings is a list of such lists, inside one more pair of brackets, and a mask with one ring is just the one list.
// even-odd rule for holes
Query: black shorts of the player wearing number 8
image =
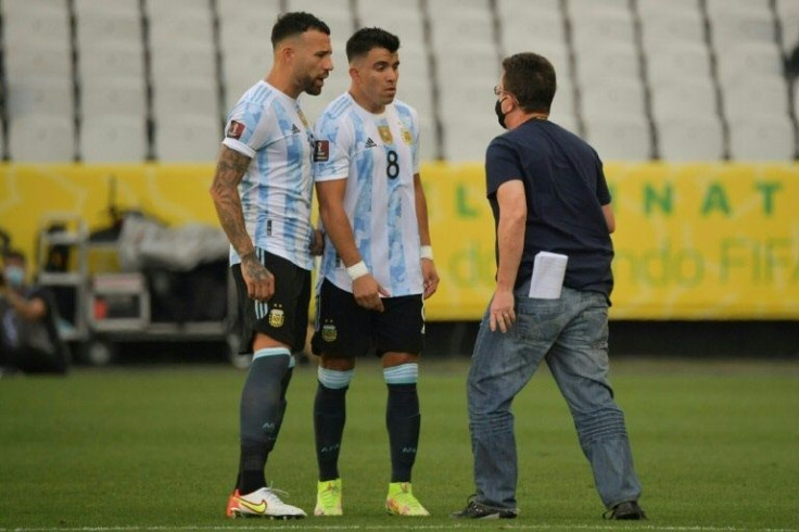
{"label": "black shorts of the player wearing number 8", "polygon": [[421,294],[383,297],[382,313],[368,311],[346,290],[325,279],[316,306],[314,353],[363,356],[376,354],[419,354],[424,346],[424,305]]}

